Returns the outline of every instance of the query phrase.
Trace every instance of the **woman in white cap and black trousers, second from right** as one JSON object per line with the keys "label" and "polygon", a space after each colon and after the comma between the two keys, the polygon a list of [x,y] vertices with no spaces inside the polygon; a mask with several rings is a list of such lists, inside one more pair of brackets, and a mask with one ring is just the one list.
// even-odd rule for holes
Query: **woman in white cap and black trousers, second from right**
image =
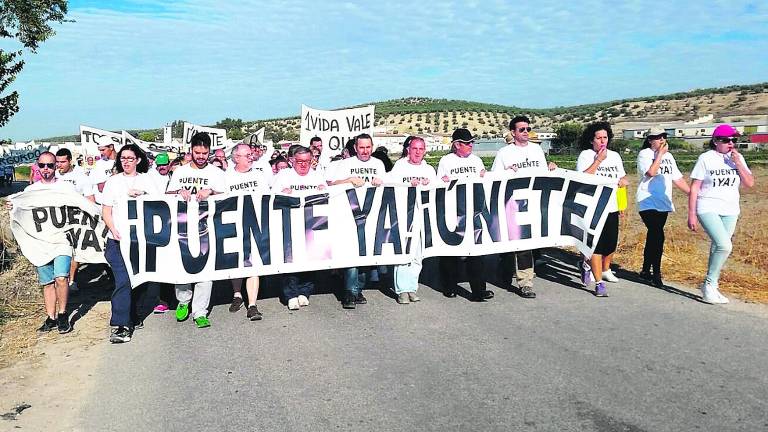
{"label": "woman in white cap and black trousers, second from right", "polygon": [[[672,185],[690,192],[688,183],[677,168],[675,158],[668,152],[667,133],[653,127],[643,141],[643,149],[637,155],[637,208],[648,234],[643,248],[643,269],[640,277],[655,287],[663,287],[661,280],[661,256],[664,253],[664,225],[667,216],[675,211],[672,204]],[[653,269],[653,273],[651,273]]]}

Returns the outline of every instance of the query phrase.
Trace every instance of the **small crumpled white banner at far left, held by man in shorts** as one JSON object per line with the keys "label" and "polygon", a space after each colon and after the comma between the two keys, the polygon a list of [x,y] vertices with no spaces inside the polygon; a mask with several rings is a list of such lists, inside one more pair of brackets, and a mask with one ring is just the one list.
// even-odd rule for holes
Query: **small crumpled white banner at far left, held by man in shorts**
{"label": "small crumpled white banner at far left, held by man in shorts", "polygon": [[103,263],[107,228],[99,207],[65,188],[19,192],[13,204],[11,231],[24,256],[35,266],[59,255],[81,263]]}

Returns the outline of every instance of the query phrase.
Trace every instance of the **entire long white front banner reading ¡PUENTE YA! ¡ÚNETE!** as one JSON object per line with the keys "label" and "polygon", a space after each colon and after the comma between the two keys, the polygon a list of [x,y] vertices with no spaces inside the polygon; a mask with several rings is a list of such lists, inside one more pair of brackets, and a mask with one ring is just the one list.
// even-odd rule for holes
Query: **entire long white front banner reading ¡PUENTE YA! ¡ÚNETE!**
{"label": "entire long white front banner reading \u00a1PUENTE YA! \u00a1\u00daNETE!", "polygon": [[429,187],[344,189],[305,196],[222,194],[129,200],[115,214],[132,282],[189,283],[576,246],[591,255],[615,189],[558,170]]}

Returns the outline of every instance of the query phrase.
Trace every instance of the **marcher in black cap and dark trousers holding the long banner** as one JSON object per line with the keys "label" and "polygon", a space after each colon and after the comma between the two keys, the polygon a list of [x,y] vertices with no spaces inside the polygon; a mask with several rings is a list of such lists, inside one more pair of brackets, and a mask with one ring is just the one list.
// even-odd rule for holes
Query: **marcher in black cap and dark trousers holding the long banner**
{"label": "marcher in black cap and dark trousers holding the long banner", "polygon": [[[485,165],[482,159],[472,154],[475,138],[468,129],[460,128],[453,132],[451,138],[451,153],[440,158],[437,164],[437,177],[444,182],[485,175]],[[485,287],[485,264],[482,256],[468,256],[467,277],[472,288],[470,300],[482,302],[493,298],[493,291]],[[458,267],[460,257],[440,257],[440,273],[443,276],[443,295],[456,297],[458,287]]]}

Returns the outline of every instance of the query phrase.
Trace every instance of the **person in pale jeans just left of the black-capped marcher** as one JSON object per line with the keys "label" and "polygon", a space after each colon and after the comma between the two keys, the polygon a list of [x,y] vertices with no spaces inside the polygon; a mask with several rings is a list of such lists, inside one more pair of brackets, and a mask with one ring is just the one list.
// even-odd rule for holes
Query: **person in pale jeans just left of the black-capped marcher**
{"label": "person in pale jeans just left of the black-capped marcher", "polygon": [[[435,169],[424,160],[426,154],[427,145],[424,139],[409,136],[403,143],[402,157],[395,162],[395,166],[389,172],[390,181],[414,187],[426,186],[435,181],[437,175]],[[400,304],[420,300],[416,290],[419,288],[421,274],[421,239],[413,238],[411,247],[414,248],[411,262],[395,266],[395,294]]]}

